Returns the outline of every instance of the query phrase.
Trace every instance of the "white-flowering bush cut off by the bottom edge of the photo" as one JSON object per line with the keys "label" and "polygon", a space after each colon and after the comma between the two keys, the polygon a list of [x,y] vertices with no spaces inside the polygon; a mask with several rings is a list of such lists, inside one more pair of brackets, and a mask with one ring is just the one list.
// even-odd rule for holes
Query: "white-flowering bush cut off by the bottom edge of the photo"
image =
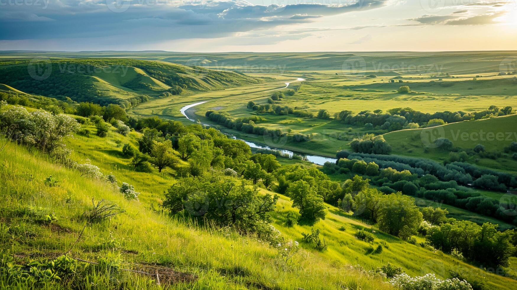
{"label": "white-flowering bush cut off by the bottom edge of the photo", "polygon": [[472,290],[465,280],[458,278],[438,279],[434,274],[410,277],[406,273],[399,274],[390,280],[390,284],[402,290]]}

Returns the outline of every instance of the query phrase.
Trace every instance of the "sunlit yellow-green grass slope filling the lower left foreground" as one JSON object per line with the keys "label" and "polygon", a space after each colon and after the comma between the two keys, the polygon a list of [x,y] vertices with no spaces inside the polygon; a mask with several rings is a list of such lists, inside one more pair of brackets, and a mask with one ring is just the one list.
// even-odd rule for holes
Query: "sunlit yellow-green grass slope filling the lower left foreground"
{"label": "sunlit yellow-green grass slope filling the lower left foreground", "polygon": [[[149,208],[145,200],[127,201],[107,183],[81,177],[16,144],[7,143],[0,158],[2,267],[14,271],[13,264],[5,263],[32,263],[37,269],[35,261],[47,263],[70,249],[71,257],[105,265],[96,268],[78,261],[73,266],[77,272],[69,279],[43,279],[36,285],[30,281],[8,285],[4,280],[8,277],[2,275],[2,288],[60,288],[58,283],[104,289],[390,288],[306,251],[294,257],[293,267],[283,270],[277,251],[252,237],[173,220]],[[45,182],[50,176],[55,181],[52,186]],[[124,212],[89,225],[80,234],[85,224],[81,216],[92,208],[92,198],[114,202]],[[161,285],[155,275],[120,268],[159,273]]]}

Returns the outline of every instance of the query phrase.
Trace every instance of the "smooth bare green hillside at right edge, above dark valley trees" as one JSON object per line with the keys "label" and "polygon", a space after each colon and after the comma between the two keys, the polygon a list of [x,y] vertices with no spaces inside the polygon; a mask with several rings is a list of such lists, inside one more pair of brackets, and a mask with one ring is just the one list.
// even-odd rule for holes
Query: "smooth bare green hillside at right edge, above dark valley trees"
{"label": "smooth bare green hillside at right edge, above dark valley trees", "polygon": [[[447,138],[460,151],[473,149],[482,144],[487,152],[502,153],[511,142],[517,141],[517,114],[478,121],[464,121],[432,128],[407,129],[384,134],[393,154],[423,156],[436,160],[449,158],[449,152],[440,147],[433,148],[437,138]],[[430,147],[428,147],[430,146]],[[478,165],[515,171],[517,161],[512,154],[502,153],[497,159],[473,155],[469,162]]]}

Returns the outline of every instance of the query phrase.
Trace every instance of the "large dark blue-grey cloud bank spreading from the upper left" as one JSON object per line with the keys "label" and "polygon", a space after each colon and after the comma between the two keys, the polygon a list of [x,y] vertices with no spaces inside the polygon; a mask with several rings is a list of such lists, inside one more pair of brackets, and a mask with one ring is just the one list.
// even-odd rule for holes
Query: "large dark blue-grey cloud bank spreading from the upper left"
{"label": "large dark blue-grey cloud bank spreading from the upper left", "polygon": [[[347,5],[252,5],[246,1],[128,0],[116,13],[112,0],[40,0],[36,6],[3,6],[0,40],[91,38],[126,44],[188,38],[219,38],[240,32],[308,23],[325,16],[383,7],[389,0],[355,0]],[[115,0],[113,0],[115,1]],[[16,25],[12,22],[16,21]],[[34,22],[38,21],[35,29]],[[260,40],[256,40],[260,44]]]}

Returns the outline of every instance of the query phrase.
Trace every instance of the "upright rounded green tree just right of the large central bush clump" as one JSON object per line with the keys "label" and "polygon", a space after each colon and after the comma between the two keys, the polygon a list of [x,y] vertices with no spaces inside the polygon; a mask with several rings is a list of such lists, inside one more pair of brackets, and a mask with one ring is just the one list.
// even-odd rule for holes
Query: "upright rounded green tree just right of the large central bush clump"
{"label": "upright rounded green tree just right of the large central bush clump", "polygon": [[316,195],[307,181],[291,183],[287,188],[287,195],[293,200],[293,207],[299,209],[302,219],[313,222],[325,219],[323,198]]}

